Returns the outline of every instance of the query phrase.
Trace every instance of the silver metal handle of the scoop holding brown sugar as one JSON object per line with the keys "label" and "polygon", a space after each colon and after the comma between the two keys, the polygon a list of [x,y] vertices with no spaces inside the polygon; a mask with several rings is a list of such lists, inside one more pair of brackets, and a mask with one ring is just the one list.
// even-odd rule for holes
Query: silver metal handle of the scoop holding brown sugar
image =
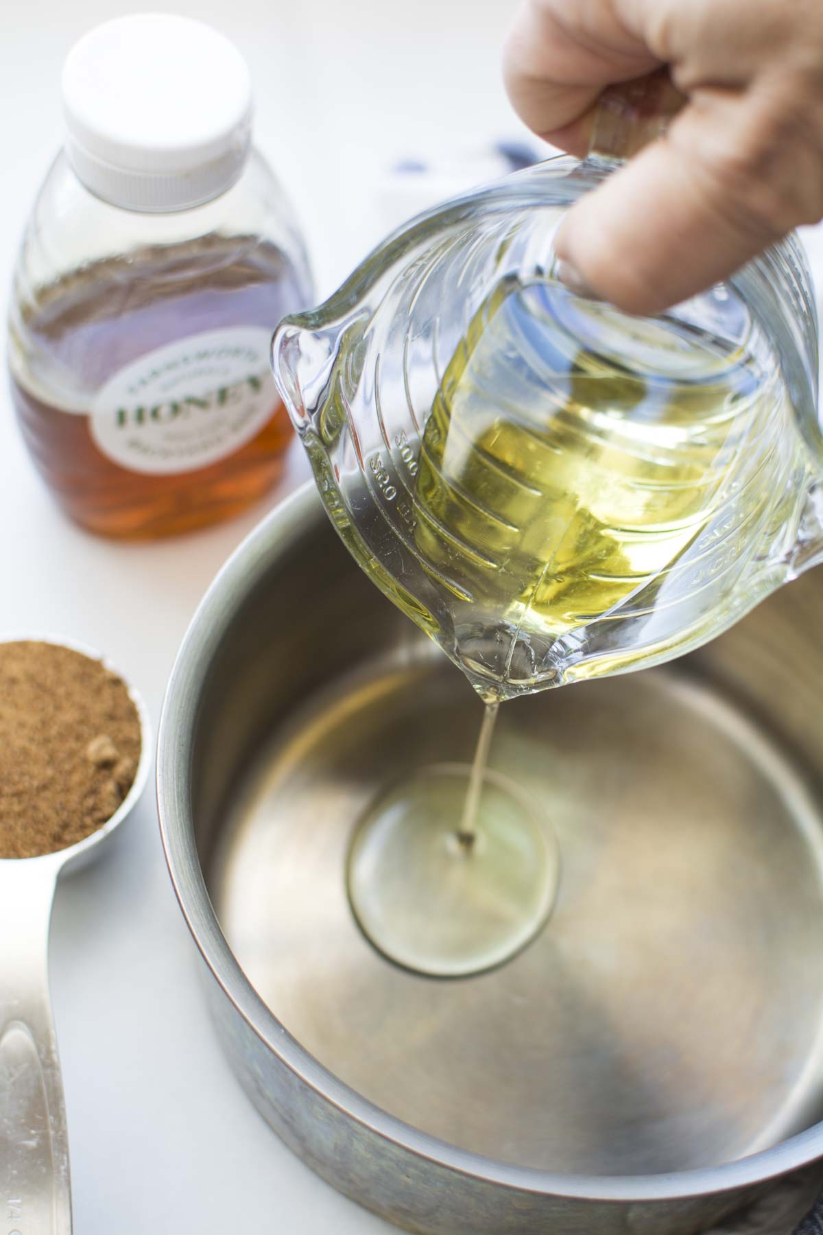
{"label": "silver metal handle of the scoop holding brown sugar", "polygon": [[0,861],[0,1215],[4,1235],[70,1235],[63,1079],[48,992],[60,855]]}

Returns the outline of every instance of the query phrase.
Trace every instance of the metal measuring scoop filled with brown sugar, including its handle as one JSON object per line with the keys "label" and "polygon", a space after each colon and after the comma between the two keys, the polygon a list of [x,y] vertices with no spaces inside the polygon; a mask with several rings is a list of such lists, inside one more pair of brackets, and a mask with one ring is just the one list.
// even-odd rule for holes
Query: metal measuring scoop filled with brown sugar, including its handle
{"label": "metal measuring scoop filled with brown sugar, including its handle", "polygon": [[0,640],[0,1197],[10,1229],[72,1230],[48,984],[58,878],[95,857],[146,784],[146,708],[68,641]]}

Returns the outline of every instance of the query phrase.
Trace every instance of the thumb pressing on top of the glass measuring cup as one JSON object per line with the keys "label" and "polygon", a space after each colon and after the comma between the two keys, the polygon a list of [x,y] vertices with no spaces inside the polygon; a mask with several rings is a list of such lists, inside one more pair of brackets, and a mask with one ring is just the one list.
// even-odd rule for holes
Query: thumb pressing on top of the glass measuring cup
{"label": "thumb pressing on top of the glass measuring cup", "polygon": [[735,146],[737,126],[717,114],[726,110],[690,105],[666,137],[573,206],[554,245],[564,283],[627,312],[660,312],[801,221],[770,191],[769,175],[784,174],[780,152]]}

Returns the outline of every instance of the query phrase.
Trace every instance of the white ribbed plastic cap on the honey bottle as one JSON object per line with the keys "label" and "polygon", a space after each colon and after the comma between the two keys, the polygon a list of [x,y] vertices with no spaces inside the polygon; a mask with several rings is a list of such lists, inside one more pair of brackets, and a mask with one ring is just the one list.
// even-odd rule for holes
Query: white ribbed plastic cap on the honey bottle
{"label": "white ribbed plastic cap on the honey bottle", "polygon": [[96,196],[185,210],[238,179],[252,133],[246,61],[190,17],[133,14],[74,44],[63,68],[65,151]]}

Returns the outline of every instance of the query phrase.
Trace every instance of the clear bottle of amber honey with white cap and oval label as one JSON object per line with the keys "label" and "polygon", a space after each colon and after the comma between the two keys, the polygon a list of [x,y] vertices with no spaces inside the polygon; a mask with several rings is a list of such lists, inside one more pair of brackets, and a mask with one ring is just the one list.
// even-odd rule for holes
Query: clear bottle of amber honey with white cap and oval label
{"label": "clear bottle of amber honey with white cap and oval label", "polygon": [[65,143],[9,321],[26,445],[93,531],[227,517],[284,468],[270,338],[312,300],[291,207],[250,142],[248,68],[202,22],[137,14],[85,35],[62,86]]}

